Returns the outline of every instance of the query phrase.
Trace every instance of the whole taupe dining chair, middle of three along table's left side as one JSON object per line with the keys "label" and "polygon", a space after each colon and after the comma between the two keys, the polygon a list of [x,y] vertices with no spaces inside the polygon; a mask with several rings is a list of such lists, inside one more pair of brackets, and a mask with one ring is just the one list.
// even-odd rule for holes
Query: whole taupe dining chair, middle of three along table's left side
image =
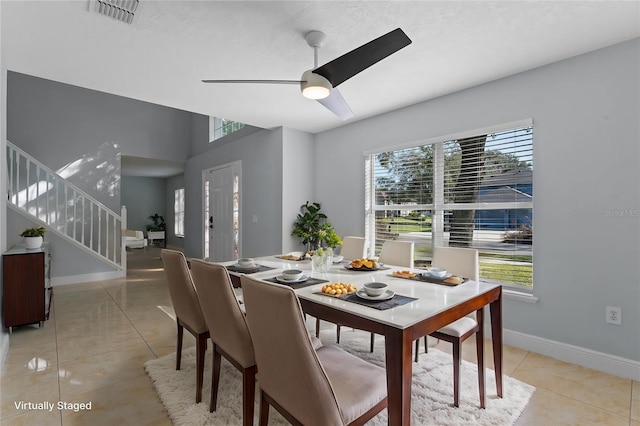
{"label": "whole taupe dining chair, middle of three along table's left side", "polygon": [[244,425],[252,425],[256,361],[247,321],[234,293],[229,272],[222,265],[193,259],[191,274],[213,344],[209,412],[216,410],[220,363],[224,356],[242,373],[242,419]]}

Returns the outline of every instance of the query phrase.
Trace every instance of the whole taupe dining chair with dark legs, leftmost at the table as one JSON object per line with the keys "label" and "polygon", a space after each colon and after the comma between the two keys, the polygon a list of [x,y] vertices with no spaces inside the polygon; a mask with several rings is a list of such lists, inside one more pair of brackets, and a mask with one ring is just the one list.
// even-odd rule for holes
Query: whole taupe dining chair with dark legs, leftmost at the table
{"label": "whole taupe dining chair with dark legs, leftmost at the table", "polygon": [[209,329],[205,323],[198,295],[196,294],[187,259],[179,251],[162,249],[160,257],[164,263],[171,303],[176,314],[178,338],[176,344],[176,370],[182,360],[182,335],[186,328],[196,339],[196,403],[202,400],[204,354],[207,351]]}

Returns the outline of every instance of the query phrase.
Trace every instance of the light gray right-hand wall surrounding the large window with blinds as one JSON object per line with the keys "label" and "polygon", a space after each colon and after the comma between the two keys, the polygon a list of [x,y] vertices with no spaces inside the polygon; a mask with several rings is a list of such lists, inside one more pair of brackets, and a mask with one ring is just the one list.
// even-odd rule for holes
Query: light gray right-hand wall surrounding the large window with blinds
{"label": "light gray right-hand wall surrounding the large window with blinds", "polygon": [[505,328],[638,361],[639,52],[635,39],[318,134],[316,169],[332,168],[317,199],[341,234],[362,235],[364,151],[533,118],[539,301],[505,299]]}

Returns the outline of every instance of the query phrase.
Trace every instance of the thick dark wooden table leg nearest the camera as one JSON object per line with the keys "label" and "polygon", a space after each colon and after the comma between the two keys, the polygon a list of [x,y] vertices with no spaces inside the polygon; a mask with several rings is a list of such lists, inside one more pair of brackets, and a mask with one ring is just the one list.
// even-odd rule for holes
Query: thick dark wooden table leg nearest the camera
{"label": "thick dark wooden table leg nearest the camera", "polygon": [[412,344],[409,330],[389,329],[385,333],[387,413],[392,426],[411,424]]}

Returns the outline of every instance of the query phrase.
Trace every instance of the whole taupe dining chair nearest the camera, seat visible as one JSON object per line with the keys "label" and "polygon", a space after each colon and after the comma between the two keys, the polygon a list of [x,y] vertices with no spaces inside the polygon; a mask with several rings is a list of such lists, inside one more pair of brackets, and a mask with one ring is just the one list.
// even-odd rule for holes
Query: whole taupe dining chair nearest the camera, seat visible
{"label": "whole taupe dining chair nearest the camera, seat visible", "polygon": [[294,425],[362,425],[387,406],[383,368],[335,345],[314,350],[290,287],[242,276],[258,365],[260,425],[273,406]]}

